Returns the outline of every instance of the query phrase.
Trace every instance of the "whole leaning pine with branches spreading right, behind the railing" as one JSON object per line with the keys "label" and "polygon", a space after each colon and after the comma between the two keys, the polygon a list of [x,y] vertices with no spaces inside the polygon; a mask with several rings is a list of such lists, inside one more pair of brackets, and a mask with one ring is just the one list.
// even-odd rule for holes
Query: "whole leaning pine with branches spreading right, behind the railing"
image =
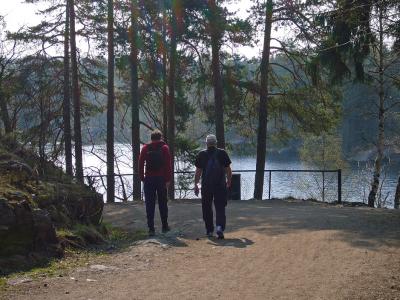
{"label": "whole leaning pine with branches spreading right, behind the railing", "polygon": [[[261,8],[261,9],[260,9]],[[264,44],[260,65],[261,82],[236,82],[260,96],[257,126],[257,162],[254,184],[254,198],[262,199],[264,189],[265,162],[267,149],[267,124],[272,113],[296,120],[305,130],[321,131],[332,126],[336,118],[337,103],[326,101],[329,88],[321,79],[313,81],[307,69],[315,44],[320,42],[320,28],[314,16],[319,6],[313,2],[271,1],[253,7],[255,15],[262,12],[264,19]],[[272,35],[273,27],[290,28],[294,36]],[[274,45],[271,41],[274,41]],[[273,52],[272,52],[273,50]],[[274,55],[274,61],[271,57]],[[277,58],[283,58],[283,63]],[[285,62],[288,64],[286,65]],[[325,86],[324,86],[325,85]],[[315,94],[317,92],[317,94]],[[319,104],[322,102],[323,104]],[[329,102],[329,104],[328,104]],[[305,110],[307,105],[307,110]],[[326,109],[318,109],[323,105]],[[330,106],[330,107],[329,107]],[[272,109],[274,109],[272,111]],[[310,112],[318,118],[306,118]],[[331,118],[332,120],[328,121]],[[315,121],[312,121],[315,120]],[[323,121],[322,121],[323,120]],[[325,124],[323,124],[325,122]],[[307,124],[309,123],[309,124]]]}

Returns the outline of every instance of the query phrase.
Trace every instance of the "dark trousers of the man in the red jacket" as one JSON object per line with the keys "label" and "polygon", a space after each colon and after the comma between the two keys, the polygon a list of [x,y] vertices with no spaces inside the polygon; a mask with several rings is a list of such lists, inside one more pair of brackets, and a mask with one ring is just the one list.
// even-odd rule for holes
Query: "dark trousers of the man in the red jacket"
{"label": "dark trousers of the man in the red jacket", "polygon": [[144,200],[146,203],[147,226],[154,230],[154,212],[158,199],[162,226],[168,225],[167,188],[162,176],[148,176],[144,179]]}

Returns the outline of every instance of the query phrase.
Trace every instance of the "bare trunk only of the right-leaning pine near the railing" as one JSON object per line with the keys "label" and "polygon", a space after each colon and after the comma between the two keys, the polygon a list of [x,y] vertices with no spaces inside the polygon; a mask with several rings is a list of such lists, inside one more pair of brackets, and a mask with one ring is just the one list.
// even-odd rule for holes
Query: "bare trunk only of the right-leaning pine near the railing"
{"label": "bare trunk only of the right-leaning pine near the railing", "polygon": [[272,0],[268,0],[265,15],[264,46],[261,59],[261,88],[260,108],[257,130],[257,162],[256,177],[254,183],[254,198],[261,200],[264,189],[264,167],[267,148],[267,99],[268,99],[268,70],[269,56],[271,50],[271,27],[272,27]]}

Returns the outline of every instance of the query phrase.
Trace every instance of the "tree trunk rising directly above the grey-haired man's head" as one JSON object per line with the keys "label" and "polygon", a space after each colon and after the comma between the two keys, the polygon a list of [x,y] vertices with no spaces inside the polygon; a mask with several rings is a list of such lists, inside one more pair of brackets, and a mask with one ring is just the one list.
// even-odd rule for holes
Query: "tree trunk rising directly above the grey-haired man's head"
{"label": "tree trunk rising directly above the grey-haired man's head", "polygon": [[220,65],[220,48],[222,29],[219,28],[218,21],[220,14],[215,0],[209,1],[210,8],[210,30],[211,30],[211,52],[212,52],[212,82],[214,87],[215,103],[215,135],[217,137],[218,148],[225,148],[225,128],[224,128],[224,99]]}

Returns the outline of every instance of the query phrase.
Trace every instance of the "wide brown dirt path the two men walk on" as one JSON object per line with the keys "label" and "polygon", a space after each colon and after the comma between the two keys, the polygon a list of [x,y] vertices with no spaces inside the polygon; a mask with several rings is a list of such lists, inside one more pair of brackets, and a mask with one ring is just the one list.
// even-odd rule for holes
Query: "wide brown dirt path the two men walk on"
{"label": "wide brown dirt path the two men walk on", "polygon": [[[240,201],[227,214],[226,240],[209,240],[198,202],[170,204],[171,233],[5,299],[400,299],[399,212]],[[145,228],[140,204],[105,219]]]}

